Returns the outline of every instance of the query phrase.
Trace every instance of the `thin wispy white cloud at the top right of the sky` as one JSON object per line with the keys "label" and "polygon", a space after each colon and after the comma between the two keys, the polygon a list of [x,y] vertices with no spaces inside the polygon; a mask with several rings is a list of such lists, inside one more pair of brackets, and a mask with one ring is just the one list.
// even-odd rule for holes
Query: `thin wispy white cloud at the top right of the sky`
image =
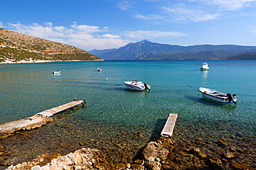
{"label": "thin wispy white cloud at the top right of the sky", "polygon": [[[137,19],[150,21],[208,21],[218,19],[224,14],[252,6],[256,0],[181,0],[154,1],[151,3],[152,14],[136,14]],[[157,2],[157,3],[156,3]],[[256,3],[255,3],[256,4]]]}

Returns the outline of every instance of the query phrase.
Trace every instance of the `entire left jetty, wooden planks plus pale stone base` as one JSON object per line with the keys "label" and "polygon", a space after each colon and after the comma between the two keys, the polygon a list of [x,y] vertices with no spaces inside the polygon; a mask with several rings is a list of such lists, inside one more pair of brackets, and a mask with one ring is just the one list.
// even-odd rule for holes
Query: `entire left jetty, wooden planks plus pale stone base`
{"label": "entire left jetty, wooden planks plus pale stone base", "polygon": [[81,104],[84,107],[86,103],[84,100],[74,100],[70,103],[66,103],[65,105],[39,112],[38,114],[30,116],[29,118],[3,123],[0,125],[0,138],[6,138],[11,134],[14,134],[16,131],[26,131],[41,127],[42,125],[46,125],[46,123],[53,121],[53,118],[51,118],[51,116],[53,116],[54,114],[71,109],[72,107]]}

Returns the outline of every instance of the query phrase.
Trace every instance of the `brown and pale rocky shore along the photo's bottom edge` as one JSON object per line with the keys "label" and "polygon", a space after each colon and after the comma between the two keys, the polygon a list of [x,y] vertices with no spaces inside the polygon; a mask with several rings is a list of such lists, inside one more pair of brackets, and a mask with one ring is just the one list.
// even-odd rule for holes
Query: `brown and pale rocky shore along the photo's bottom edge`
{"label": "brown and pale rocky shore along the photo's bottom edge", "polygon": [[[219,140],[223,147],[228,143]],[[43,154],[31,162],[11,165],[8,170],[52,170],[52,169],[255,169],[250,164],[237,160],[238,152],[235,147],[228,147],[221,158],[210,155],[199,147],[193,147],[172,138],[159,138],[151,141],[133,158],[131,162],[113,164],[107,159],[106,153],[98,149],[79,149],[66,156],[59,153]]]}

